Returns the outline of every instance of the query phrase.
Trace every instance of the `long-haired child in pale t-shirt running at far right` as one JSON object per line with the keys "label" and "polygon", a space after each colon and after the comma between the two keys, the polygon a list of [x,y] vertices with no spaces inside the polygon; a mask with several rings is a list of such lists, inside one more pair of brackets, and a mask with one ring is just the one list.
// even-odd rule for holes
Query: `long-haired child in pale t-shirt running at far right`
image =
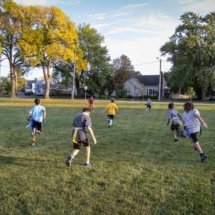
{"label": "long-haired child in pale t-shirt running at far right", "polygon": [[202,151],[200,143],[198,141],[197,134],[200,132],[201,124],[207,128],[207,123],[202,119],[200,113],[197,109],[195,109],[192,102],[186,102],[184,104],[184,113],[183,113],[183,121],[185,125],[185,129],[194,144],[195,150],[198,151],[201,162],[204,162],[207,159],[207,156]]}

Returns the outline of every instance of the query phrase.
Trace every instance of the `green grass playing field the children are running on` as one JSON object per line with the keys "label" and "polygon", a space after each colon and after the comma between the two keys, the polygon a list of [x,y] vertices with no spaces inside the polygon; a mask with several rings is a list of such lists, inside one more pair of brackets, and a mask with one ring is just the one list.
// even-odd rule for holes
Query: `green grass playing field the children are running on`
{"label": "green grass playing field the children are running on", "polygon": [[109,129],[107,102],[98,102],[93,167],[83,167],[83,149],[67,168],[71,122],[84,103],[45,102],[44,134],[32,147],[25,126],[33,102],[0,101],[1,215],[215,214],[215,106],[197,106],[208,123],[200,137],[208,160],[200,163],[190,142],[173,143],[167,105],[144,114],[143,104],[121,102]]}

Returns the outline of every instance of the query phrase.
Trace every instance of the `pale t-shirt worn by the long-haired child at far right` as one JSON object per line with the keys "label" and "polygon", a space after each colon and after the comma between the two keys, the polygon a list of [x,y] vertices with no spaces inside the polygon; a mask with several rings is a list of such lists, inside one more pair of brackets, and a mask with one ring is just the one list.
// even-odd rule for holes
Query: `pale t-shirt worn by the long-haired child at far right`
{"label": "pale t-shirt worn by the long-haired child at far right", "polygon": [[200,131],[201,123],[197,116],[200,116],[200,113],[197,109],[193,109],[188,112],[185,111],[183,113],[184,125],[190,134]]}

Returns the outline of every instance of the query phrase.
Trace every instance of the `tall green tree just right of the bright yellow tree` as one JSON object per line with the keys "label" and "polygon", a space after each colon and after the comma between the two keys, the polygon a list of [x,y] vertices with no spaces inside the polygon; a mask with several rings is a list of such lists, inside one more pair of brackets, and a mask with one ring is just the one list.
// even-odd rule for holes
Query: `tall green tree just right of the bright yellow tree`
{"label": "tall green tree just right of the bright yellow tree", "polygon": [[103,45],[104,37],[89,24],[79,25],[80,48],[84,58],[90,64],[90,71],[82,71],[81,78],[85,81],[91,94],[100,96],[111,91],[113,68],[107,47]]}

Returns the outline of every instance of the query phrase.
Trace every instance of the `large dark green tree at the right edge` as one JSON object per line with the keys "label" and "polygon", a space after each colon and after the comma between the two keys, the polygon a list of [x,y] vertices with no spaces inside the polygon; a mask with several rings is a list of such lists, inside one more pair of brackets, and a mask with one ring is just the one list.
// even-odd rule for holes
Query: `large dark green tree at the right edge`
{"label": "large dark green tree at the right edge", "polygon": [[202,17],[188,12],[170,40],[161,47],[173,63],[169,77],[172,89],[193,87],[199,98],[206,98],[215,86],[215,13]]}

